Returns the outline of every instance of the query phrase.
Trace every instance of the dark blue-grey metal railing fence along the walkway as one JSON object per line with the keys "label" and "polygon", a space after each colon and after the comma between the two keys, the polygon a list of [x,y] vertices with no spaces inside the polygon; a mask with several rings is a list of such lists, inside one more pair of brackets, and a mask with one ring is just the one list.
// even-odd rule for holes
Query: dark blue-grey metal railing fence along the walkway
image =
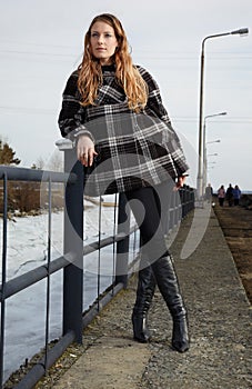
{"label": "dark blue-grey metal railing fence along the walkway", "polygon": [[[75,160],[75,150],[68,142],[59,144],[64,151],[64,173],[42,171],[34,169],[0,167],[0,179],[3,184],[3,228],[2,228],[2,282],[0,287],[1,301],[1,343],[0,343],[0,388],[3,388],[3,361],[4,361],[4,335],[6,335],[6,301],[8,298],[23,289],[47,280],[46,296],[46,320],[44,320],[44,356],[34,365],[24,378],[16,386],[17,389],[32,388],[39,379],[47,373],[48,369],[63,353],[67,347],[77,341],[82,342],[82,330],[93,317],[102,309],[111,298],[122,288],[127,287],[129,275],[129,237],[135,231],[130,228],[130,220],[125,213],[125,197],[119,196],[118,207],[118,230],[113,236],[101,239],[89,246],[83,246],[83,168]],[[8,181],[43,182],[48,192],[48,247],[47,263],[30,270],[19,277],[7,280],[7,240],[8,240]],[[65,186],[64,191],[64,231],[63,231],[63,255],[51,259],[51,197],[52,183],[61,182]],[[174,192],[175,193],[175,192]],[[194,191],[189,187],[180,190],[180,196],[173,196],[168,219],[168,230],[174,227],[194,205]],[[123,226],[123,230],[122,227]],[[101,290],[98,287],[97,302],[83,316],[83,256],[103,247],[114,245],[115,263],[113,282],[108,292],[101,298]],[[135,250],[138,251],[138,250]],[[137,253],[137,252],[135,252]],[[120,257],[120,260],[118,260]],[[50,291],[51,275],[63,269],[63,310],[62,310],[62,336],[59,341],[49,348],[49,320],[50,320]],[[99,271],[98,271],[99,277]],[[98,280],[98,286],[99,286]],[[22,307],[26,309],[26,307]]]}

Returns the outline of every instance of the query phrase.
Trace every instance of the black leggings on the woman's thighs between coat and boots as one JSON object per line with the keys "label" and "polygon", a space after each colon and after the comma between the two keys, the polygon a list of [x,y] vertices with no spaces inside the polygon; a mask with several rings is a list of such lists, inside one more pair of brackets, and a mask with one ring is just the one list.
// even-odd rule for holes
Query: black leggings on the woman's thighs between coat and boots
{"label": "black leggings on the woman's thighs between coat and boots", "polygon": [[164,229],[168,222],[173,186],[174,182],[171,180],[154,188],[143,187],[125,192],[127,199],[130,201],[130,208],[139,225],[143,257],[150,263],[168,253]]}

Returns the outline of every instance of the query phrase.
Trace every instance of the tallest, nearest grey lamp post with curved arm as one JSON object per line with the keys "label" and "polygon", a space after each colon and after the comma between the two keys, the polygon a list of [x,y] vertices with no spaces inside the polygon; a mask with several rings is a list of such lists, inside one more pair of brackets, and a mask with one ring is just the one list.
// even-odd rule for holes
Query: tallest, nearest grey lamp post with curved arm
{"label": "tallest, nearest grey lamp post with curved arm", "polygon": [[203,167],[202,167],[202,118],[203,118],[203,80],[204,80],[204,43],[208,39],[225,37],[225,36],[243,36],[249,33],[248,28],[242,28],[240,30],[234,30],[230,32],[215,33],[212,36],[208,36],[202,41],[201,48],[201,76],[200,76],[200,116],[199,116],[199,167],[198,167],[198,179],[196,179],[196,188],[198,188],[198,197],[202,199],[203,194]]}

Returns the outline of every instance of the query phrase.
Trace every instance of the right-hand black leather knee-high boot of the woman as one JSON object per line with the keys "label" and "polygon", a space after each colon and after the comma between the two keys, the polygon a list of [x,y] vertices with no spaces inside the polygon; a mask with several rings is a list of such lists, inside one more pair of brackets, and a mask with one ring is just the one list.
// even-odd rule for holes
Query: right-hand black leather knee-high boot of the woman
{"label": "right-hand black leather knee-high boot of the woman", "polygon": [[180,352],[189,349],[188,320],[184,303],[179,290],[171,256],[159,258],[152,270],[173,319],[172,347]]}

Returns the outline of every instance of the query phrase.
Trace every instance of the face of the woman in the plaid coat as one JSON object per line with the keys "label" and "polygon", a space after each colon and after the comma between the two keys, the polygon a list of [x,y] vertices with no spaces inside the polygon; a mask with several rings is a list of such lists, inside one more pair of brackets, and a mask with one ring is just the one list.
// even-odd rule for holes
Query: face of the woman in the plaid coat
{"label": "face of the woman in the plaid coat", "polygon": [[114,29],[103,21],[97,21],[91,27],[90,46],[92,54],[101,64],[111,64],[111,58],[118,47]]}

